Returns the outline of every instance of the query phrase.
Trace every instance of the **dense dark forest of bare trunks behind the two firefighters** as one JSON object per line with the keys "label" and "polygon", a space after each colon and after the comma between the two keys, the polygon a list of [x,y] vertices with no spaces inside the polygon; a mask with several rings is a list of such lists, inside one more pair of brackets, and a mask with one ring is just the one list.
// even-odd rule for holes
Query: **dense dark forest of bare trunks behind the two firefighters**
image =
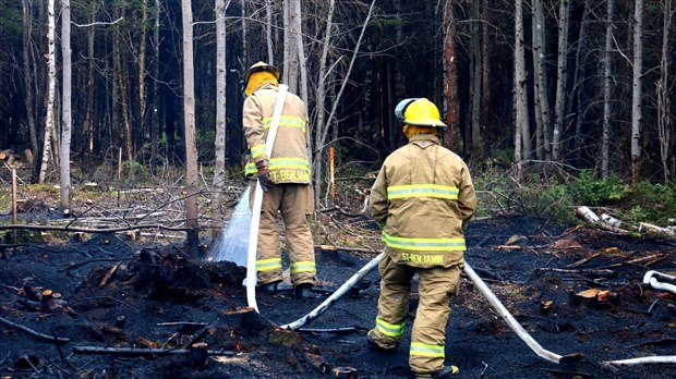
{"label": "dense dark forest of bare trunks behind the two firefighters", "polygon": [[675,9],[673,0],[0,0],[0,158],[26,163],[33,183],[59,183],[64,208],[77,185],[116,176],[134,185],[182,168],[194,239],[198,173],[215,188],[215,223],[222,186],[243,175],[242,77],[263,60],[307,105],[317,206],[330,203],[335,175],[369,178],[406,143],[399,100],[427,97],[451,125],[444,145],[470,163],[493,206],[518,193],[535,212],[621,204],[628,218],[668,222]]}

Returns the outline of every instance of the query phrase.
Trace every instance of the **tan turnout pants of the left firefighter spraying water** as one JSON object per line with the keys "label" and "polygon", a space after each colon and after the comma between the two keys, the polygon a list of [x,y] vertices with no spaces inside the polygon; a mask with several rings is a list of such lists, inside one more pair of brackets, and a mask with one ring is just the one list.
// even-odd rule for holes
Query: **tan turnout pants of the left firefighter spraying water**
{"label": "tan turnout pants of the left firefighter spraying water", "polygon": [[[254,190],[252,186],[250,197],[252,207]],[[310,207],[312,199],[309,197],[312,197],[312,186],[307,184],[277,184],[264,192],[256,260],[259,285],[282,280],[278,213],[281,213],[287,234],[291,283],[293,286],[315,283],[314,242],[307,222],[307,215],[312,211]]]}

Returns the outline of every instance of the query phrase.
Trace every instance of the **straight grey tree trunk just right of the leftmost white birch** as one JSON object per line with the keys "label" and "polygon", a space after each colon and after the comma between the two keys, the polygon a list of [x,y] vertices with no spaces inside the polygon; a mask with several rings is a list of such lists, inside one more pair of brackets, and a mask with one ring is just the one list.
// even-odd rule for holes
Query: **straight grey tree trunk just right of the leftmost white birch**
{"label": "straight grey tree trunk just right of the leftmost white birch", "polygon": [[71,1],[61,0],[61,59],[63,60],[63,95],[61,125],[61,207],[71,207]]}

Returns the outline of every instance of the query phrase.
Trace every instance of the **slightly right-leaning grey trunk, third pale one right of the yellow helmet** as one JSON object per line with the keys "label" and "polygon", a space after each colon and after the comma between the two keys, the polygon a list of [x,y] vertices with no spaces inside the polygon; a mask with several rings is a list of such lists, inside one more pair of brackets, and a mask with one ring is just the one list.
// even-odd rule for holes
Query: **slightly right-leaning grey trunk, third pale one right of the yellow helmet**
{"label": "slightly right-leaning grey trunk, third pale one right of the yellow helmet", "polygon": [[570,1],[560,0],[558,9],[558,59],[556,64],[556,102],[554,106],[555,122],[552,130],[552,159],[559,161],[560,134],[564,130],[566,114],[566,82],[568,78],[568,20]]}

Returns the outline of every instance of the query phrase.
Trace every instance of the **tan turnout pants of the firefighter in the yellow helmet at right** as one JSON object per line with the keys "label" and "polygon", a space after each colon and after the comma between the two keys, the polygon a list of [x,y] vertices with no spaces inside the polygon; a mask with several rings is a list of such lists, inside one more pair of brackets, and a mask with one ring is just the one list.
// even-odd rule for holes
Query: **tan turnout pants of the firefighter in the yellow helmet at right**
{"label": "tan turnout pants of the firefighter in the yellow helmet at right", "polygon": [[403,335],[411,280],[419,276],[420,303],[409,350],[413,372],[436,372],[444,366],[446,323],[450,314],[450,296],[458,292],[461,266],[427,269],[396,264],[389,256],[381,260],[381,296],[373,339],[382,347],[393,349]]}

